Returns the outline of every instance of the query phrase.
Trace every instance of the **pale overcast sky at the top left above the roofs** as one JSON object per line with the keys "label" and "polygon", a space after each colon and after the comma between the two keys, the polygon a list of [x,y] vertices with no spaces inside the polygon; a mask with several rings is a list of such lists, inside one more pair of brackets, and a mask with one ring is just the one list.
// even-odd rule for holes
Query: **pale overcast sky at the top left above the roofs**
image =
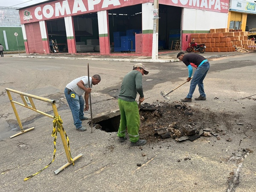
{"label": "pale overcast sky at the top left above the roofs", "polygon": [[26,7],[41,3],[47,0],[0,0],[0,6],[5,7]]}

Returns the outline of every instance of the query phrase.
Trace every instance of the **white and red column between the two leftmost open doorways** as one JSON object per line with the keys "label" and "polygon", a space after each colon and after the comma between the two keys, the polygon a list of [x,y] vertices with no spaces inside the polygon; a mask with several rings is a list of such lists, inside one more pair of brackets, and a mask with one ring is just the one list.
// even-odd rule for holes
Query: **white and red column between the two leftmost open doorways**
{"label": "white and red column between the two leftmost open doorways", "polygon": [[73,28],[73,18],[71,16],[64,17],[65,27],[67,33],[67,49],[68,53],[76,53],[76,42],[74,39],[74,28]]}

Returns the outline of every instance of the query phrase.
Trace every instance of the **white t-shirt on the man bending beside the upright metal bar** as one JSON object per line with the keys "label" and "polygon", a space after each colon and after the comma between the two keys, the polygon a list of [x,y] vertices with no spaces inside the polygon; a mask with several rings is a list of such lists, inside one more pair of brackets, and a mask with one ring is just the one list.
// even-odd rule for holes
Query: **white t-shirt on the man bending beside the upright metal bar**
{"label": "white t-shirt on the man bending beside the upright metal bar", "polygon": [[[84,93],[84,90],[77,86],[77,83],[81,80],[84,82],[84,87],[88,88],[89,87],[88,76],[82,76],[77,79],[74,79],[69,84],[67,84],[66,87],[72,90],[73,92],[75,92],[78,96],[81,96]],[[92,78],[90,77],[90,88],[92,87],[93,87],[93,82],[92,82]]]}

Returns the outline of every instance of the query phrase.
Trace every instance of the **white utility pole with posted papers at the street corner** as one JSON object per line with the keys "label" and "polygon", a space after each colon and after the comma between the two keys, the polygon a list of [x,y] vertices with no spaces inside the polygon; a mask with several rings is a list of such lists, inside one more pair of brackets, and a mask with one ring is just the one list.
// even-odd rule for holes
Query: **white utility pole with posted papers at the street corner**
{"label": "white utility pole with posted papers at the street corner", "polygon": [[154,0],[152,59],[158,59],[158,19],[159,19],[158,9],[159,9],[159,0]]}

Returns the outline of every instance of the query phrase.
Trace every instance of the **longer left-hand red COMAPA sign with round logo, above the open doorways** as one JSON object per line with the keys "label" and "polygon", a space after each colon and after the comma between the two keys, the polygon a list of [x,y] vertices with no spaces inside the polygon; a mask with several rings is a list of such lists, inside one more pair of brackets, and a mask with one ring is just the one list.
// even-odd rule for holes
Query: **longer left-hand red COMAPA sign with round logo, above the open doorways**
{"label": "longer left-hand red COMAPA sign with round logo, above the open doorways", "polygon": [[[153,0],[154,1],[154,0]],[[56,0],[20,9],[21,24],[67,16],[83,15],[147,3],[150,0]]]}

